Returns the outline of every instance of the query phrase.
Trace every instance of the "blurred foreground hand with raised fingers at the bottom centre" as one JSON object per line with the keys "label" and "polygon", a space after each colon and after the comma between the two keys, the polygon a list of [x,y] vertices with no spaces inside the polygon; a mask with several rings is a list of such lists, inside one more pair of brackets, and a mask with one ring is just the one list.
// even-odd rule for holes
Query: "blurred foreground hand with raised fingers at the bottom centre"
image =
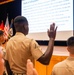
{"label": "blurred foreground hand with raised fingers at the bottom centre", "polygon": [[33,63],[30,59],[27,60],[27,75],[38,75],[35,68],[33,68]]}

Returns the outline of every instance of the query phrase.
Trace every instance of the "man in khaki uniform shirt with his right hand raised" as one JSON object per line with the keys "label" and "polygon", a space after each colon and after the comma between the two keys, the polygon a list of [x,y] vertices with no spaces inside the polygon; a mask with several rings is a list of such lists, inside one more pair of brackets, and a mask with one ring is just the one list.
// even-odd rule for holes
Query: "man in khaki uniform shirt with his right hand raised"
{"label": "man in khaki uniform shirt with his right hand raised", "polygon": [[[5,47],[6,65],[9,64],[13,75],[20,73],[26,75],[27,59],[30,59],[33,64],[34,60],[37,60],[43,65],[48,65],[51,60],[56,37],[57,27],[55,27],[55,23],[52,23],[47,31],[49,43],[44,53],[36,40],[30,39],[26,36],[29,32],[29,24],[26,17],[15,17],[14,27],[16,34],[8,40]],[[8,69],[8,66],[6,67]]]}

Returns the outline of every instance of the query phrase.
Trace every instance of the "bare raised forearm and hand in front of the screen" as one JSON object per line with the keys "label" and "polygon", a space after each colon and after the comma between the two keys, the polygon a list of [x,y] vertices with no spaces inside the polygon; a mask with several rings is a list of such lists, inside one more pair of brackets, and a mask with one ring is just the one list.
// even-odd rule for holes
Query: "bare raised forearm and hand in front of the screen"
{"label": "bare raised forearm and hand in front of the screen", "polygon": [[52,56],[52,53],[53,53],[53,47],[54,47],[54,40],[55,40],[55,37],[56,37],[56,30],[57,30],[57,27],[55,28],[55,24],[51,24],[50,25],[50,30],[48,30],[48,36],[50,38],[50,41],[48,43],[48,47],[47,47],[47,50],[46,52],[37,60],[39,61],[40,63],[44,64],[44,65],[48,65],[49,62],[50,62],[50,59],[51,59],[51,56]]}

